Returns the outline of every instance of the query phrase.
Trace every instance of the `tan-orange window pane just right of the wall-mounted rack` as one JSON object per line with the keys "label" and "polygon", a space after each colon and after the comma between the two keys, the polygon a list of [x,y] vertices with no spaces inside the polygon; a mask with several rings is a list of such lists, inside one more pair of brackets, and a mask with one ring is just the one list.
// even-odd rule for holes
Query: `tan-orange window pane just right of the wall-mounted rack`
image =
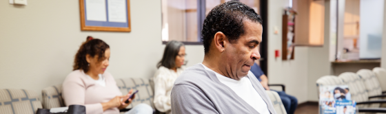
{"label": "tan-orange window pane just right of the wall-mounted rack", "polygon": [[323,46],[325,1],[294,0],[293,8],[298,12],[295,17],[295,45]]}

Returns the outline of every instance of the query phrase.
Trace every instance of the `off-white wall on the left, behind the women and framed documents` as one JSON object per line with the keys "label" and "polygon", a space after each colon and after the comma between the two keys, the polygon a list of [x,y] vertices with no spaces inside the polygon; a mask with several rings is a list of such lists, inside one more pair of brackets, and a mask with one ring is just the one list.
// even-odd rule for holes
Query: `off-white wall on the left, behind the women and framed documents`
{"label": "off-white wall on the left, behind the women and framed documents", "polygon": [[[150,78],[165,47],[161,43],[161,1],[130,1],[132,32],[84,32],[79,1],[0,3],[0,89],[41,89],[63,82],[86,36],[111,47],[114,78]],[[203,46],[187,45],[187,66],[202,62]]]}

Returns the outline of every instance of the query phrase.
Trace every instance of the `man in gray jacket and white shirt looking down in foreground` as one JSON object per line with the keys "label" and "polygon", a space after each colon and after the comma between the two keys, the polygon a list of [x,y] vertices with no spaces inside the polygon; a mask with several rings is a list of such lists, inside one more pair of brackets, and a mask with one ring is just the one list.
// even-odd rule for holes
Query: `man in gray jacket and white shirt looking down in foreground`
{"label": "man in gray jacket and white shirt looking down in foreground", "polygon": [[204,60],[174,82],[172,113],[276,114],[267,93],[250,71],[260,58],[261,16],[238,1],[213,8],[206,16]]}

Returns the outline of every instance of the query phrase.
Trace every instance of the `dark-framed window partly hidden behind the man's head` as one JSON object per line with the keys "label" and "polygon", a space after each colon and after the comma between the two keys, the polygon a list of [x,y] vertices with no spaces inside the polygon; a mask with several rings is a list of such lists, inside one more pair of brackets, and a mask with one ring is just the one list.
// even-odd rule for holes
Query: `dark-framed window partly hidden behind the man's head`
{"label": "dark-framed window partly hidden behind the man's head", "polygon": [[[162,41],[181,41],[201,45],[205,16],[220,3],[230,0],[161,0]],[[259,0],[239,0],[258,12]]]}

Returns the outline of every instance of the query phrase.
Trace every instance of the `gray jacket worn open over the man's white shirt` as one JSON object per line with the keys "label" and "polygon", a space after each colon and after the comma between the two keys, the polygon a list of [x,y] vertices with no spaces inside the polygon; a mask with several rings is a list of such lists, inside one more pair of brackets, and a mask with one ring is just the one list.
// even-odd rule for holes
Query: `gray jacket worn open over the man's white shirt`
{"label": "gray jacket worn open over the man's white shirt", "polygon": [[[254,89],[268,106],[272,114],[276,114],[271,100],[257,78],[248,75]],[[232,89],[221,83],[212,71],[207,71],[203,65],[197,64],[181,73],[174,82],[172,89],[172,113],[258,113],[252,106],[238,97]]]}

